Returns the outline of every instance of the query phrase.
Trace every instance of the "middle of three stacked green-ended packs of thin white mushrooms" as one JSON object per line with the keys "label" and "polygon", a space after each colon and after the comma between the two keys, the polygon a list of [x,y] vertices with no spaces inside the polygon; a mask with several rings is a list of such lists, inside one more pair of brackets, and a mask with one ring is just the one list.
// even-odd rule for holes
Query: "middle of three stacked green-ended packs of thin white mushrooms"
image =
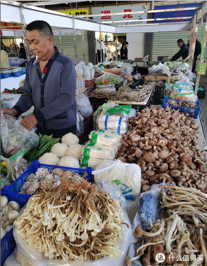
{"label": "middle of three stacked green-ended packs of thin white mushrooms", "polygon": [[82,149],[82,154],[84,157],[114,160],[115,153],[107,150],[106,148],[95,147],[95,142],[94,142],[94,143],[84,146]]}

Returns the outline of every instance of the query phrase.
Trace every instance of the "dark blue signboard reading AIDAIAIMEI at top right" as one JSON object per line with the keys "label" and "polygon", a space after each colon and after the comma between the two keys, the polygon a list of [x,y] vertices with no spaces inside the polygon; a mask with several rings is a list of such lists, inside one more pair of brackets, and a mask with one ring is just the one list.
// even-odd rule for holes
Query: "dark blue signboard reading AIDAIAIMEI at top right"
{"label": "dark blue signboard reading AIDAIAIMEI at top right", "polygon": [[[168,12],[157,12],[154,13],[154,18],[172,18],[168,20],[155,20],[154,23],[165,23],[165,22],[189,22],[191,18],[185,17],[193,17],[196,10],[182,10],[182,8],[190,8],[190,7],[199,7],[201,3],[190,3],[190,4],[179,4],[179,5],[155,5],[154,10],[159,9],[172,9],[179,8],[179,11],[168,11]],[[181,19],[174,19],[181,18]]]}

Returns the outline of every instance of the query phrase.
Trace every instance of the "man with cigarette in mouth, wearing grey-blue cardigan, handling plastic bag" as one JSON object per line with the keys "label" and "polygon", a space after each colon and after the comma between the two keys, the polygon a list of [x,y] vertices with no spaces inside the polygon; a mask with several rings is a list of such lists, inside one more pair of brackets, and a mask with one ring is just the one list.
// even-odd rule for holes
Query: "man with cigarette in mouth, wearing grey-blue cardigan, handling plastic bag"
{"label": "man with cigarette in mouth, wearing grey-blue cardigan, handling plastic bag", "polygon": [[[71,59],[53,46],[53,33],[45,21],[33,21],[27,26],[27,42],[33,57],[26,66],[23,94],[13,108],[1,111],[12,117],[29,110],[21,124],[31,130],[53,137],[76,133],[76,71]],[[36,59],[36,56],[38,59]]]}

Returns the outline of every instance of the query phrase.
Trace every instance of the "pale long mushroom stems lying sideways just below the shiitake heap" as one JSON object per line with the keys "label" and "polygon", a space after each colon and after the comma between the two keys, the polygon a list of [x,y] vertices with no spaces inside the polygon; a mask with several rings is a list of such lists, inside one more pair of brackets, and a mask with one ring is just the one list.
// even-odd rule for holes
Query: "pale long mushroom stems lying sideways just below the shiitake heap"
{"label": "pale long mushroom stems lying sideways just below the shiitake heap", "polygon": [[160,208],[167,207],[168,215],[178,214],[185,222],[207,232],[207,194],[196,188],[166,185],[160,197]]}

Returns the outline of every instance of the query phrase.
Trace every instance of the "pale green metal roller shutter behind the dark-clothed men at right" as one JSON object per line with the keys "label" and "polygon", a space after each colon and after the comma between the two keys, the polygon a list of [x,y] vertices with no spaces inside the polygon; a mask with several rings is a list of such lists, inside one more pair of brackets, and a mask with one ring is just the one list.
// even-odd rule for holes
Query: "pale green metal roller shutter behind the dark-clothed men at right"
{"label": "pale green metal roller shutter behind the dark-clothed men at right", "polygon": [[[203,23],[203,33],[205,29],[205,22]],[[201,24],[199,23],[197,39],[202,44],[201,35]],[[153,37],[153,47],[152,47],[152,61],[157,59],[158,56],[169,56],[170,58],[174,56],[178,51],[177,40],[183,39],[184,43],[187,44],[188,41],[188,31],[173,31],[173,32],[156,32]],[[198,56],[198,59],[200,55]],[[181,61],[182,57],[178,59]],[[205,45],[204,59],[207,62],[207,46]],[[198,66],[198,60],[196,63],[196,71]]]}

